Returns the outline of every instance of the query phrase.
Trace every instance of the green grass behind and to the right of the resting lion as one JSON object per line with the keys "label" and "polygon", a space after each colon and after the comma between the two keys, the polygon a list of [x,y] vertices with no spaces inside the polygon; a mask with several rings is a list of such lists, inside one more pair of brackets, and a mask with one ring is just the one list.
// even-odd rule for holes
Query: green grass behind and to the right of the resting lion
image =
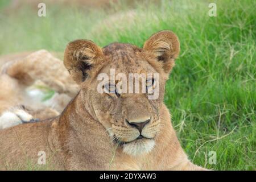
{"label": "green grass behind and to the right of the resting lion", "polygon": [[[216,2],[217,17],[208,16]],[[47,6],[47,16],[23,10],[0,14],[0,54],[47,49],[91,39],[142,46],[154,32],[172,30],[181,53],[166,86],[165,102],[189,158],[217,170],[256,169],[256,1],[148,1],[133,6],[133,18],[104,23],[129,11]],[[1,11],[1,9],[0,9]],[[102,22],[103,21],[103,22]],[[217,164],[208,163],[216,151]]]}

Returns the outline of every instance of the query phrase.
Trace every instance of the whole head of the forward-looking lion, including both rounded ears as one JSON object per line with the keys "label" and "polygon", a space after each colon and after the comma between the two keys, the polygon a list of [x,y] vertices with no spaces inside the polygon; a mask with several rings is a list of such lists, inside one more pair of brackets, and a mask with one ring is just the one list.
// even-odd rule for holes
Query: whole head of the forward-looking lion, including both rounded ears
{"label": "whole head of the forward-looking lion, including both rounded ears", "polygon": [[164,85],[179,51],[171,31],[152,35],[143,48],[121,43],[100,48],[90,40],[75,40],[65,49],[64,65],[81,85],[90,115],[123,152],[139,155],[155,146]]}

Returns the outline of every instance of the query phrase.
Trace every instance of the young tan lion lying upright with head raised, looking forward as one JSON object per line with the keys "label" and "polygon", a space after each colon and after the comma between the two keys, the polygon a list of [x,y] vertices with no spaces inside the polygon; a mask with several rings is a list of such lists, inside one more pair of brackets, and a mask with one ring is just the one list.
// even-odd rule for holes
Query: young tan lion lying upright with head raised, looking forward
{"label": "young tan lion lying upright with head raised, looking forward", "polygon": [[[163,102],[179,52],[179,39],[171,31],[152,35],[143,48],[124,43],[101,48],[83,39],[69,43],[64,66],[79,92],[57,117],[0,130],[0,168],[26,168],[27,160],[39,165],[43,151],[55,170],[206,170],[190,162],[181,148]],[[158,74],[159,79],[139,81],[146,89],[158,85],[158,97],[119,92],[120,80],[99,86],[99,75],[111,77],[111,69],[126,76]],[[100,93],[99,87],[111,92]]]}

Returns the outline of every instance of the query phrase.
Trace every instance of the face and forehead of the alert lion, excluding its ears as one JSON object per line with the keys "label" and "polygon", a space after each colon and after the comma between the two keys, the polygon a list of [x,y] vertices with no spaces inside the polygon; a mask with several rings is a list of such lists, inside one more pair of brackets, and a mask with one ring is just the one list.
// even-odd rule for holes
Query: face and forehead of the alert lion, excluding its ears
{"label": "face and forehead of the alert lion, excluding its ears", "polygon": [[[158,72],[144,58],[141,50],[129,44],[110,44],[103,52],[107,64],[84,89],[89,98],[93,98],[91,105],[96,118],[106,127],[113,142],[122,146],[126,153],[137,155],[150,151],[159,130],[164,79],[158,77]],[[135,73],[140,78],[137,85]],[[130,81],[129,75],[130,78],[134,76]],[[133,84],[130,93],[129,84]],[[145,91],[158,88],[155,89],[155,98],[150,99],[153,94],[143,93],[143,86]],[[139,89],[137,93],[135,89]]]}

